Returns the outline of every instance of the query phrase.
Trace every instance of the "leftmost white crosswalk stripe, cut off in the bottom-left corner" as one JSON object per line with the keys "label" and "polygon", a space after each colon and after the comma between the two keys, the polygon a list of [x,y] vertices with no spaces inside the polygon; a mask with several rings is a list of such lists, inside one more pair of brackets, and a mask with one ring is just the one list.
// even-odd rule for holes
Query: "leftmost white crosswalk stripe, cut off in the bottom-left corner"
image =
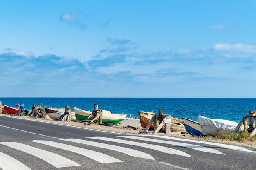
{"label": "leftmost white crosswalk stripe, cut off in the bottom-left corner", "polygon": [[0,152],[0,168],[3,170],[31,170],[17,159]]}

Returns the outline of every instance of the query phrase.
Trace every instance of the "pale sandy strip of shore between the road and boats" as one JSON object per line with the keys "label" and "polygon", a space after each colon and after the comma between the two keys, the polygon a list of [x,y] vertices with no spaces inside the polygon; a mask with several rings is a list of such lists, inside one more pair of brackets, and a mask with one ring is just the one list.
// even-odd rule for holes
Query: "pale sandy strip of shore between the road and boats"
{"label": "pale sandy strip of shore between the road and boats", "polygon": [[[1,114],[3,116],[10,116],[6,114]],[[119,125],[113,125],[113,126],[106,126],[106,125],[99,125],[99,124],[85,124],[84,122],[79,121],[56,121],[52,119],[35,119],[33,117],[28,116],[11,116],[16,117],[18,119],[30,119],[33,121],[44,121],[49,123],[57,123],[57,124],[63,124],[63,125],[72,125],[77,126],[81,128],[88,128],[88,129],[94,129],[94,130],[101,130],[101,131],[107,131],[107,132],[116,132],[116,133],[123,133],[123,134],[141,134],[139,131],[144,130],[144,128],[141,127],[139,119],[124,119],[119,123]],[[149,134],[152,134],[153,131],[148,131]],[[158,135],[165,135],[165,134],[158,134]],[[256,151],[256,142],[246,142],[246,143],[240,143],[238,141],[229,141],[229,140],[221,140],[221,139],[206,139],[201,137],[192,137],[189,134],[170,134],[169,136],[173,137],[179,137],[179,138],[186,138],[186,139],[195,139],[200,141],[210,141],[210,142],[217,142],[217,143],[224,143],[224,144],[231,144],[231,145],[238,145],[238,146],[244,146],[246,148],[249,147],[250,150]]]}

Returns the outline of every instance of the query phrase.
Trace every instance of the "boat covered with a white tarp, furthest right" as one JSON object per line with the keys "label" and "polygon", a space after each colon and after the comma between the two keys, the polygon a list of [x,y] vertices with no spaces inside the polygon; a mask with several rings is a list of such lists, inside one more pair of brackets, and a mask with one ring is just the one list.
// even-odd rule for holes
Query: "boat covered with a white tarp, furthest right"
{"label": "boat covered with a white tarp, furthest right", "polygon": [[222,136],[233,132],[238,126],[238,123],[234,121],[210,119],[204,116],[198,116],[198,121],[201,125],[203,135]]}

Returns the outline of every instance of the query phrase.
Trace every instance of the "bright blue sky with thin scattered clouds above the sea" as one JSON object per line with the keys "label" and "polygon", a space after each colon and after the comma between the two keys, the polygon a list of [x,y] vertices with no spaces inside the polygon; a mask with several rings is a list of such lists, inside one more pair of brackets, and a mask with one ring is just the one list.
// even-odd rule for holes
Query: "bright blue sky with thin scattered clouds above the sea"
{"label": "bright blue sky with thin scattered clouds above the sea", "polygon": [[256,97],[256,1],[0,0],[2,97]]}

